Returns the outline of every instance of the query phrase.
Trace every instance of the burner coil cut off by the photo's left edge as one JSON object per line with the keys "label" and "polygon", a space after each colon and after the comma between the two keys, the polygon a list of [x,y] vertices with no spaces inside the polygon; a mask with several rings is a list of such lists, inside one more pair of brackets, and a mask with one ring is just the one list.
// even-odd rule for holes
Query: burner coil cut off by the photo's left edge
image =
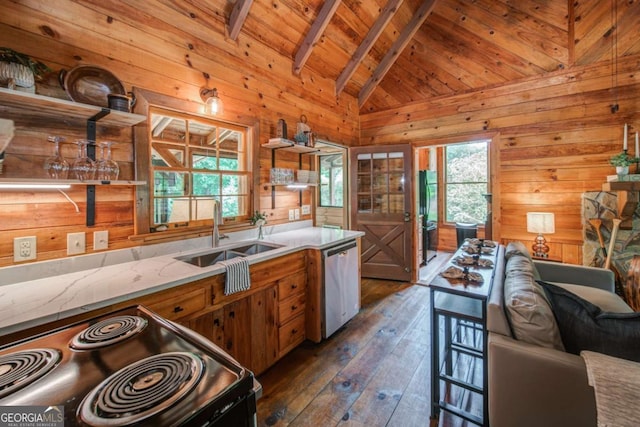
{"label": "burner coil cut off by the photo's left edge", "polygon": [[60,353],[49,348],[0,356],[0,398],[42,378],[59,360]]}

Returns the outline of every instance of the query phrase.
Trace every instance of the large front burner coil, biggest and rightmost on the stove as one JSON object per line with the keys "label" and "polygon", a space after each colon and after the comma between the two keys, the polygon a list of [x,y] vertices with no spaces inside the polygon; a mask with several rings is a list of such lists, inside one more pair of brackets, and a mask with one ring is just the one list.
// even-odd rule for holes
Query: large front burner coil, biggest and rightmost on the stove
{"label": "large front burner coil, biggest and rightmost on the stove", "polygon": [[96,386],[82,401],[80,418],[92,426],[126,426],[171,407],[198,383],[202,360],[171,352],[128,365]]}

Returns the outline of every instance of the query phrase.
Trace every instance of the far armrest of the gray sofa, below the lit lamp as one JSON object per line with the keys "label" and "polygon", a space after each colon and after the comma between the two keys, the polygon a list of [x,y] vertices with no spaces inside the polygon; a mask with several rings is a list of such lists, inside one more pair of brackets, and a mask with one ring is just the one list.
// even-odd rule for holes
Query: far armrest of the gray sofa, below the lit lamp
{"label": "far armrest of the gray sofa, below the lit lamp", "polygon": [[533,263],[540,273],[540,279],[545,282],[572,283],[604,289],[609,292],[615,290],[613,271],[605,268],[537,260]]}

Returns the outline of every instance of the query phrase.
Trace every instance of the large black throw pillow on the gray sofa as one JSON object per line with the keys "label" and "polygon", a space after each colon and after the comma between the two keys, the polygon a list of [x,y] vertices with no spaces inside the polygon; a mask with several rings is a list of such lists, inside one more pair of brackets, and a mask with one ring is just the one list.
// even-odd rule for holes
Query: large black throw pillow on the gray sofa
{"label": "large black throw pillow on the gray sofa", "polygon": [[640,362],[640,312],[610,313],[559,286],[538,281],[567,352],[583,350]]}

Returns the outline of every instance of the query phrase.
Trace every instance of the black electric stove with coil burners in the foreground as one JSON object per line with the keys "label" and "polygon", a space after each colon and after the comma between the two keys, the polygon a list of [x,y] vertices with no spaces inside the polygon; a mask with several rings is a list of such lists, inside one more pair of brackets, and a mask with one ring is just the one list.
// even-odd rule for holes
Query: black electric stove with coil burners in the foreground
{"label": "black electric stove with coil burners in the foreground", "polygon": [[255,426],[253,374],[142,306],[0,348],[0,406],[64,406],[65,426]]}

